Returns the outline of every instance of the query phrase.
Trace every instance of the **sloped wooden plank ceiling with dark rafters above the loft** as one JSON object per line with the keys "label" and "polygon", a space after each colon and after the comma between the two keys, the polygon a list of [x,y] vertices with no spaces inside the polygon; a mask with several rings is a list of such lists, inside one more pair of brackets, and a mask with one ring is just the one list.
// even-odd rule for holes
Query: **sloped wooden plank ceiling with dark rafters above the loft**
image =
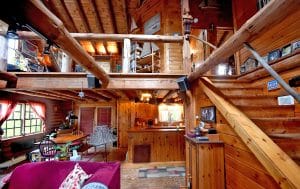
{"label": "sloped wooden plank ceiling with dark rafters above the loft", "polygon": [[[127,34],[130,16],[139,0],[42,0],[71,33]],[[80,41],[91,55],[121,53],[121,44],[113,41]]]}

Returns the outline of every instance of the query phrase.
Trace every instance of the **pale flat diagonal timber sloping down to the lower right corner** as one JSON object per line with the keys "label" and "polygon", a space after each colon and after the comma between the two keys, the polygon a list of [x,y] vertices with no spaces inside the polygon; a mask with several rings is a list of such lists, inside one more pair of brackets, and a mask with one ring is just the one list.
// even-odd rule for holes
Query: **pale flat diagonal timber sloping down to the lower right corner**
{"label": "pale flat diagonal timber sloping down to the lower right corner", "polygon": [[207,78],[200,86],[245,145],[268,170],[281,188],[300,188],[299,166],[243,112],[225,100]]}

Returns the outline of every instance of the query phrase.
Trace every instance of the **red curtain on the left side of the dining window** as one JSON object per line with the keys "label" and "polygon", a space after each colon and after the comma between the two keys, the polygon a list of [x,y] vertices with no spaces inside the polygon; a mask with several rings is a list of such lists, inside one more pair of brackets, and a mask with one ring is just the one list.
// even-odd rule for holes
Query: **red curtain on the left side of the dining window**
{"label": "red curtain on the left side of the dining window", "polygon": [[8,119],[10,114],[14,111],[17,102],[13,102],[11,100],[1,100],[0,105],[0,135],[2,135],[3,130],[1,126],[4,123],[4,121]]}

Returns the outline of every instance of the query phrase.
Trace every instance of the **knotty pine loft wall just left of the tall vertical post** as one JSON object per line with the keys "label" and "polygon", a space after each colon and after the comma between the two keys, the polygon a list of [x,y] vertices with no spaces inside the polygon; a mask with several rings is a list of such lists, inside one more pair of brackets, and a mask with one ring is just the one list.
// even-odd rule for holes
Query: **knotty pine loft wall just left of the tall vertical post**
{"label": "knotty pine loft wall just left of the tall vertical post", "polygon": [[[143,27],[151,17],[160,13],[160,31],[155,34],[174,35],[182,34],[181,1],[154,0],[145,1],[138,10],[138,23]],[[143,29],[141,33],[144,33]],[[183,73],[182,44],[156,43],[160,48],[160,72]]]}

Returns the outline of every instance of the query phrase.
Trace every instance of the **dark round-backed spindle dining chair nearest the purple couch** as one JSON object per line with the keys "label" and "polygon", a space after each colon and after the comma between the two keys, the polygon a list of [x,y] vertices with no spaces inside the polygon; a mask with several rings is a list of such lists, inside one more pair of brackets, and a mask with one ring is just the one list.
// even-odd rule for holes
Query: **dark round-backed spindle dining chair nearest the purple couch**
{"label": "dark round-backed spindle dining chair nearest the purple couch", "polygon": [[42,160],[51,160],[54,159],[57,154],[57,144],[45,137],[39,144],[39,150],[42,157]]}

